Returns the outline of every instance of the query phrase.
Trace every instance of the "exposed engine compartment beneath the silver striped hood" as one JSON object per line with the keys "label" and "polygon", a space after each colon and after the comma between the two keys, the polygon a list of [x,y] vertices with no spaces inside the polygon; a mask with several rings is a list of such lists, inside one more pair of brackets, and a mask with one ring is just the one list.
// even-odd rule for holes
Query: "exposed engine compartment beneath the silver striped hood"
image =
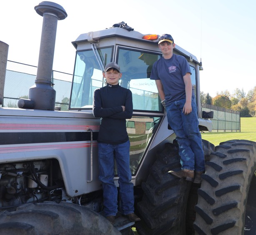
{"label": "exposed engine compartment beneath the silver striped hood", "polygon": [[0,164],[0,209],[61,200],[63,186],[56,159]]}

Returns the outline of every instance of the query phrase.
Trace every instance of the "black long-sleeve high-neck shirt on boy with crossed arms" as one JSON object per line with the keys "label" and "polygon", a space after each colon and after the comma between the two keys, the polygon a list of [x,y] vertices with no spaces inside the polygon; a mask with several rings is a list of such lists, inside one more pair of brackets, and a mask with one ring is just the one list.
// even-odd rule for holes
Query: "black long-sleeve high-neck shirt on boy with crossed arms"
{"label": "black long-sleeve high-neck shirt on boy with crossed arms", "polygon": [[[121,106],[125,106],[125,111]],[[94,91],[93,115],[100,117],[98,142],[106,144],[124,143],[128,138],[126,119],[133,115],[130,90],[118,85],[107,84]]]}

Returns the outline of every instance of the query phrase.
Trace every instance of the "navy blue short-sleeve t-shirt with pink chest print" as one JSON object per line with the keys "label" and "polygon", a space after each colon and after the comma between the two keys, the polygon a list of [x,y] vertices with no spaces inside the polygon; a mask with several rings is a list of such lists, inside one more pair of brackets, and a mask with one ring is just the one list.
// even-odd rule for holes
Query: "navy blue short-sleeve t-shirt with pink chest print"
{"label": "navy blue short-sleeve t-shirt with pink chest print", "polygon": [[150,79],[161,80],[166,104],[186,98],[183,80],[186,73],[191,73],[191,70],[184,56],[173,54],[171,59],[161,57],[153,64]]}

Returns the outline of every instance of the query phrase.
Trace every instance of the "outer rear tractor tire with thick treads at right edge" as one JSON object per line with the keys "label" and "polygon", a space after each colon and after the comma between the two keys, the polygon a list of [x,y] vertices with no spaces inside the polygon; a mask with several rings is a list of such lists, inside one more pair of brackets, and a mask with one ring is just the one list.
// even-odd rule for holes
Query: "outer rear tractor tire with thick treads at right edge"
{"label": "outer rear tractor tire with thick treads at right edge", "polygon": [[199,235],[255,235],[256,142],[215,147],[198,189],[194,229]]}

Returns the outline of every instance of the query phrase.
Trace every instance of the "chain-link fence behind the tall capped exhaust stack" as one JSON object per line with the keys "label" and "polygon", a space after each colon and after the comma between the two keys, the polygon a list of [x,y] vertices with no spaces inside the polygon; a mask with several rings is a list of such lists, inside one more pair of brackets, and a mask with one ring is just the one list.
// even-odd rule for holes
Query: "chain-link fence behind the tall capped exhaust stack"
{"label": "chain-link fence behind the tall capped exhaust stack", "polygon": [[[5,88],[2,107],[18,108],[20,98],[28,98],[29,88],[35,85],[37,67],[14,61],[7,61]],[[55,106],[68,111],[72,74],[52,72],[52,83],[56,91]]]}

